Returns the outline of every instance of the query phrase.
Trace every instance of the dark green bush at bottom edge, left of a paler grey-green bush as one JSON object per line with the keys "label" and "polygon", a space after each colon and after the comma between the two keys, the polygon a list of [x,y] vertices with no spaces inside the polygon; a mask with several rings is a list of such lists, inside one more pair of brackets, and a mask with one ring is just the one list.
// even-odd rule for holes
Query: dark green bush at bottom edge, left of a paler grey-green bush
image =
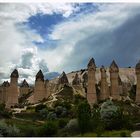
{"label": "dark green bush at bottom edge, left of a paler grey-green bush", "polygon": [[58,126],[56,122],[48,121],[44,124],[40,131],[40,136],[48,136],[52,137],[55,136],[58,130]]}

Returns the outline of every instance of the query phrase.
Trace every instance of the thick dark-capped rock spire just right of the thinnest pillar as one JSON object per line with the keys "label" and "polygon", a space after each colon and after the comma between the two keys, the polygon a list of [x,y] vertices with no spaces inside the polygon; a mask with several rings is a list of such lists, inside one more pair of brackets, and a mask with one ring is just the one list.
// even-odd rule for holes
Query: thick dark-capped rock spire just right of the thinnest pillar
{"label": "thick dark-capped rock spire just right of the thinnest pillar", "polygon": [[110,82],[111,82],[111,87],[110,87],[110,93],[111,97],[116,100],[120,98],[119,95],[119,68],[116,64],[116,62],[113,60],[111,65],[110,65]]}

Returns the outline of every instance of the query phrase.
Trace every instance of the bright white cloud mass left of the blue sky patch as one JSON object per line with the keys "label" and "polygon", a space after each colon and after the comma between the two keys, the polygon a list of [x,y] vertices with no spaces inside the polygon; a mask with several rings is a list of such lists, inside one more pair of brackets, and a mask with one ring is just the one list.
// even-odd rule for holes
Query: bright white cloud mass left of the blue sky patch
{"label": "bright white cloud mass left of the blue sky patch", "polygon": [[[18,68],[21,75],[27,75],[33,80],[39,68],[47,70],[46,62],[38,54],[37,47],[32,43],[43,43],[43,38],[35,30],[23,25],[28,18],[41,14],[61,13],[64,17],[70,16],[76,8],[73,4],[27,3],[0,4],[0,71],[9,77],[13,68]],[[28,56],[28,57],[27,57]],[[30,59],[28,61],[27,59]],[[43,65],[40,63],[43,62]],[[24,64],[24,65],[23,65]],[[26,65],[26,67],[25,67]],[[30,68],[29,68],[30,66]],[[21,76],[22,77],[22,76]],[[5,79],[6,79],[5,78]],[[2,78],[1,78],[2,79]],[[21,78],[22,79],[22,78]],[[4,80],[4,79],[3,79]],[[2,80],[2,81],[3,81]]]}

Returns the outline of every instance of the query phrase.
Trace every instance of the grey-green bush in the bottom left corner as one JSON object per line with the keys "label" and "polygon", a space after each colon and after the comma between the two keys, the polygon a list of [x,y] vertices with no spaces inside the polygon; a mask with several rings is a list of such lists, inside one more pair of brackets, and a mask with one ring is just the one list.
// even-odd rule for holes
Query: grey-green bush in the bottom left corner
{"label": "grey-green bush in the bottom left corner", "polygon": [[19,129],[15,126],[7,125],[3,120],[0,121],[0,135],[4,137],[14,137],[19,135]]}

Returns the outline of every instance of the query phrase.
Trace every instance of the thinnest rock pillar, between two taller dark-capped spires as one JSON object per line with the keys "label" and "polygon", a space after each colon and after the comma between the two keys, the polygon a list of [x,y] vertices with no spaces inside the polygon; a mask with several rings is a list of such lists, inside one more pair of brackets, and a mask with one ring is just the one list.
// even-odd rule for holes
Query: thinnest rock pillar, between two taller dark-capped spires
{"label": "thinnest rock pillar, between two taller dark-capped spires", "polygon": [[100,90],[100,100],[105,100],[109,98],[109,87],[107,83],[107,76],[106,76],[106,70],[104,66],[101,67],[101,90]]}

